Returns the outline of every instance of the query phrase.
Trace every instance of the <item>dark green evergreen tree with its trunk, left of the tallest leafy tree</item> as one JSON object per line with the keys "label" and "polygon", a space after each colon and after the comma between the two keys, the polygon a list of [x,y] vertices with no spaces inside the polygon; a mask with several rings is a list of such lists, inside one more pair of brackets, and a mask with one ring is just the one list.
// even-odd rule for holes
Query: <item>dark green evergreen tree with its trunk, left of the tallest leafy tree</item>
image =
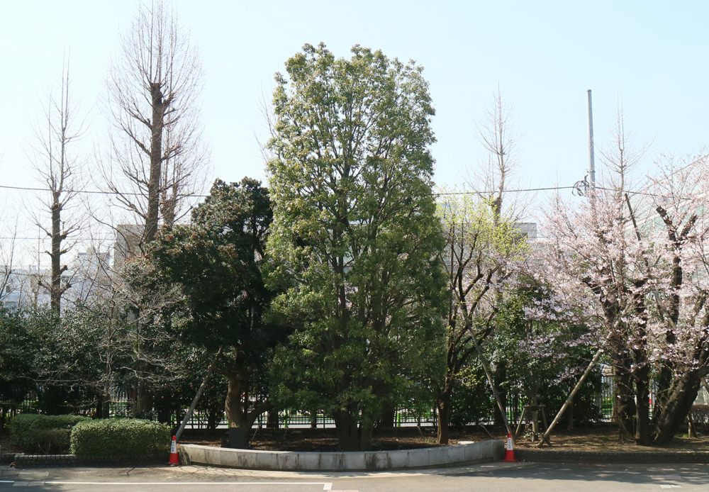
{"label": "dark green evergreen tree with its trunk, left of the tallest leafy tree", "polygon": [[218,352],[228,380],[225,410],[230,447],[246,447],[255,419],[269,408],[253,391],[282,331],[264,322],[272,292],[262,264],[272,221],[268,190],[259,181],[217,180],[192,213],[193,224],[162,230],[148,248],[158,284],[175,284],[184,303],[165,310],[190,345]]}

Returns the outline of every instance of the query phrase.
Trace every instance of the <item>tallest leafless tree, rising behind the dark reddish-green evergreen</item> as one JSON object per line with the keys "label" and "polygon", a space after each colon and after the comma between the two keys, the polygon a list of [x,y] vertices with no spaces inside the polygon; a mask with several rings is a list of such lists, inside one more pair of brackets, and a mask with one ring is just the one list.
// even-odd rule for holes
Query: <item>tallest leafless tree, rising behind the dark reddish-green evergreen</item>
{"label": "tallest leafless tree, rising behind the dark reddish-green evergreen", "polygon": [[141,4],[107,79],[110,157],[102,172],[118,203],[144,225],[141,245],[162,219],[172,225],[203,185],[201,60],[172,5]]}

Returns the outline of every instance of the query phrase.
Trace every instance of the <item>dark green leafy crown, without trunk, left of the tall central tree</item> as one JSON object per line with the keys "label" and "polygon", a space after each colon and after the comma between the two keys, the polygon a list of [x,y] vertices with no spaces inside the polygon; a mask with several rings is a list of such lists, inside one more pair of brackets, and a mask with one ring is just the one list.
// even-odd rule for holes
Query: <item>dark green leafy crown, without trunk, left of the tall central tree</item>
{"label": "dark green leafy crown, without trunk, left of the tall central tree", "polygon": [[155,285],[177,284],[184,303],[170,306],[173,328],[187,342],[217,350],[240,347],[250,363],[263,356],[273,333],[261,324],[272,296],[261,263],[272,220],[259,181],[217,180],[192,213],[192,225],[161,230],[150,243]]}

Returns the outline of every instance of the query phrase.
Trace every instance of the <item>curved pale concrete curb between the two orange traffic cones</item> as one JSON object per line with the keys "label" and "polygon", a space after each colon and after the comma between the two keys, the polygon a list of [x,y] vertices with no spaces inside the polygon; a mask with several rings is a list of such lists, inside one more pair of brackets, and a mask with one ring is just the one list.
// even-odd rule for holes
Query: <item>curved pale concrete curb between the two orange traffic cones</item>
{"label": "curved pale concrete curb between the two orange traffic cones", "polygon": [[296,452],[180,445],[181,461],[228,468],[289,471],[396,470],[487,463],[502,459],[500,440],[401,451]]}

